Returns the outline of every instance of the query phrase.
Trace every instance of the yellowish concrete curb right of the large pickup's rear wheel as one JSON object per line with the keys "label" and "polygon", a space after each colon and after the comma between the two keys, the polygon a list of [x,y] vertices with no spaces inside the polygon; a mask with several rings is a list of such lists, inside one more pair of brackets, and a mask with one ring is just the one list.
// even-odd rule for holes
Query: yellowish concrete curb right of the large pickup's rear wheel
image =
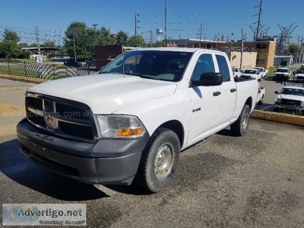
{"label": "yellowish concrete curb right of the large pickup's rear wheel", "polygon": [[253,110],[251,118],[267,120],[304,127],[304,116],[290,115],[272,111]]}

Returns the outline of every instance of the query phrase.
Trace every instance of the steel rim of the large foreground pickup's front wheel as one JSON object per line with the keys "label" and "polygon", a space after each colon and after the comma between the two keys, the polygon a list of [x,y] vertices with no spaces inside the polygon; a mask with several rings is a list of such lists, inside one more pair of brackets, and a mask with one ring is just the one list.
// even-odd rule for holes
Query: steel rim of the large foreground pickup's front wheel
{"label": "steel rim of the large foreground pickup's front wheel", "polygon": [[172,170],[175,151],[170,142],[160,146],[155,156],[153,172],[157,180],[165,179]]}

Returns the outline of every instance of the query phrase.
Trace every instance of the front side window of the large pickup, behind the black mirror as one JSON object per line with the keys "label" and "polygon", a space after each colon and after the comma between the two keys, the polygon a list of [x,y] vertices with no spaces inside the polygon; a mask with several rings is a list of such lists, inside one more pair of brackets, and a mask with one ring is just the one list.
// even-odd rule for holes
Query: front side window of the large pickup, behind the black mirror
{"label": "front side window of the large pickup, behind the black mirror", "polygon": [[215,72],[212,55],[202,54],[194,67],[191,82],[199,81],[201,78],[201,74],[207,72]]}

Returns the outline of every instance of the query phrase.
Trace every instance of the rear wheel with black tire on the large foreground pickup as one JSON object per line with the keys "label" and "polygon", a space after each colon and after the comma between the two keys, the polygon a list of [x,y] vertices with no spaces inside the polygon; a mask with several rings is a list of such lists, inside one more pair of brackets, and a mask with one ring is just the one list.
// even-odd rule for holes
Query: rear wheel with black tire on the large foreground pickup
{"label": "rear wheel with black tire on the large foreground pickup", "polygon": [[230,126],[233,135],[235,136],[245,135],[249,127],[249,122],[250,122],[250,108],[247,104],[245,104],[238,120]]}

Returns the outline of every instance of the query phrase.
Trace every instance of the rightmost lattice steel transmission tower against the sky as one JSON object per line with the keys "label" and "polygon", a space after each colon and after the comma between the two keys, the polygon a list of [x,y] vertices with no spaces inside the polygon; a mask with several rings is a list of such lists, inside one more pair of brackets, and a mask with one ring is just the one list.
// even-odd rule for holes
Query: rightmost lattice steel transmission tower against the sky
{"label": "rightmost lattice steel transmission tower against the sky", "polygon": [[291,37],[291,33],[294,31],[294,29],[297,27],[294,26],[294,23],[288,25],[287,27],[283,27],[282,25],[279,25],[279,28],[281,29],[281,34],[277,41],[277,54],[278,55],[284,55],[286,54],[288,50],[288,45]]}

